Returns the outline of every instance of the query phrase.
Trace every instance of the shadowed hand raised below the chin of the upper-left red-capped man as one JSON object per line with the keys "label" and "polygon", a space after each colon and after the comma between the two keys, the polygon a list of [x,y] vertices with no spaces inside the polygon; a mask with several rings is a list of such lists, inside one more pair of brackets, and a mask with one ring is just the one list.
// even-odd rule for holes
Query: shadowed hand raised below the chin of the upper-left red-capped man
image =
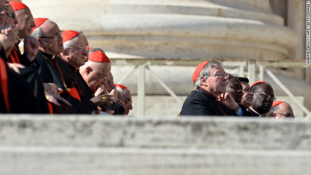
{"label": "shadowed hand raised below the chin of the upper-left red-capped man", "polygon": [[24,39],[24,54],[29,59],[30,62],[35,60],[35,55],[39,49],[39,42],[33,36],[26,35]]}

